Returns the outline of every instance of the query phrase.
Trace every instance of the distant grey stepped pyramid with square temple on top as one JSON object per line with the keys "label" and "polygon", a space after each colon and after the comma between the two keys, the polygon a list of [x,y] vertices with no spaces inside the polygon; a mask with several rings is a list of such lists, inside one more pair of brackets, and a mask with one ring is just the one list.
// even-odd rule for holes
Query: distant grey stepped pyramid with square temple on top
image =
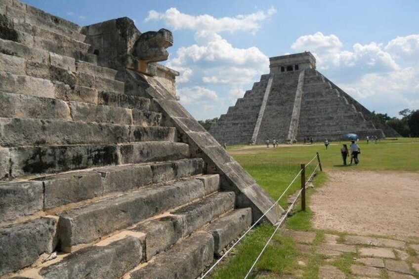
{"label": "distant grey stepped pyramid with square temple on top", "polygon": [[265,143],[267,139],[292,143],[344,139],[346,133],[360,138],[400,136],[370,111],[316,70],[310,52],[271,57],[269,75],[210,128],[220,143]]}

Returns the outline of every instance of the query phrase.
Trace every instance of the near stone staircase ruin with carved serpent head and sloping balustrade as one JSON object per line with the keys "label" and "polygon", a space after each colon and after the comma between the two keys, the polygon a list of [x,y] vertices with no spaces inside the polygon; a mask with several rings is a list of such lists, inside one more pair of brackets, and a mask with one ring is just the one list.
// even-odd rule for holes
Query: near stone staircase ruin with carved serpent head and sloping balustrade
{"label": "near stone staircase ruin with carved serpent head and sloping balustrade", "polygon": [[0,0],[0,38],[0,276],[196,278],[274,203],[176,101],[170,31]]}

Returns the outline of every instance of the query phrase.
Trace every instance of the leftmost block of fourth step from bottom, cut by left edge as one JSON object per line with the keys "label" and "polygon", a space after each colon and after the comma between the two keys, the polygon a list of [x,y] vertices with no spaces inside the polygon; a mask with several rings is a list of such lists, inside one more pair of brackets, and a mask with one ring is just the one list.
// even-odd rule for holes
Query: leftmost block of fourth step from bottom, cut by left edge
{"label": "leftmost block of fourth step from bottom, cut by left edge", "polygon": [[0,183],[0,222],[42,210],[42,182]]}

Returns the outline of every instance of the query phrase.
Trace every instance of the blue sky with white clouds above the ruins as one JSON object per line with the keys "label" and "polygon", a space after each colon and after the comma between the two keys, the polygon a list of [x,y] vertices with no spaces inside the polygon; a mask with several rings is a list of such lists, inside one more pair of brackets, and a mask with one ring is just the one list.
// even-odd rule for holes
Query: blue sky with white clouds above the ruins
{"label": "blue sky with white clouds above the ruins", "polygon": [[317,70],[370,111],[419,109],[419,0],[24,0],[89,25],[127,16],[173,33],[177,95],[198,120],[243,97],[269,57],[311,51]]}

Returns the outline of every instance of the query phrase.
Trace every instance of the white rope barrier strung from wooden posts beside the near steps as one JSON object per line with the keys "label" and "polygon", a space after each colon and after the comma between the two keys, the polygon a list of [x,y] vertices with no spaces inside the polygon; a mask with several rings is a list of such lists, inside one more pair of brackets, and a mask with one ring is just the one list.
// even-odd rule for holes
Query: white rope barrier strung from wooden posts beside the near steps
{"label": "white rope barrier strung from wooden posts beside the near steps", "polygon": [[[316,156],[314,156],[314,158],[313,159],[311,159],[307,164],[306,164],[306,166],[309,164],[309,163],[311,163],[315,158],[317,157],[317,155]],[[313,173],[316,171],[316,169],[317,169],[317,167],[319,166],[319,163],[317,163],[317,166],[315,167],[315,169],[314,169],[314,171],[313,171]],[[302,169],[300,169],[300,171],[295,175],[295,177],[294,177],[294,179],[293,179],[293,181],[291,181],[291,183],[288,185],[288,187],[284,190],[284,192],[282,193],[282,195],[275,201],[275,203],[274,204],[272,204],[271,205],[271,207],[269,207],[266,211],[265,211],[265,213],[263,213],[263,215],[262,216],[260,216],[260,218],[259,219],[257,219],[256,220],[256,222],[254,222],[253,223],[253,225],[251,225],[251,227],[239,238],[239,239],[237,239],[236,240],[236,242],[234,242],[233,243],[233,245],[231,245],[231,247],[227,250],[227,251],[225,251],[225,253],[210,267],[210,269],[209,270],[207,270],[207,272],[201,277],[201,279],[203,279],[203,278],[205,278],[211,271],[212,271],[212,269],[214,269],[214,267],[215,266],[217,266],[218,265],[218,263],[219,262],[221,262],[221,260],[225,257],[225,256],[227,256],[227,254],[240,242],[240,240],[242,240],[250,231],[251,231],[251,229],[253,229],[254,228],[254,226],[256,226],[258,223],[259,223],[259,221],[260,220],[262,220],[262,218],[263,217],[265,217],[266,216],[266,214],[269,212],[269,210],[271,210],[275,205],[277,205],[278,204],[278,202],[280,201],[280,199],[282,199],[282,197],[285,195],[285,193],[290,189],[290,187],[293,185],[293,183],[295,182],[295,180],[298,178],[298,176],[301,174],[301,172],[302,172]],[[313,173],[312,173],[312,175],[313,175]],[[310,176],[310,178],[311,178],[311,176]],[[309,179],[310,179],[309,178]],[[305,184],[307,184],[307,182],[305,182]],[[278,224],[278,226],[277,226],[277,229],[275,230],[275,232],[278,230],[278,228],[281,226],[281,224],[282,224],[282,222],[284,222],[284,220],[285,220],[285,218],[287,217],[287,215],[290,213],[290,210],[291,210],[291,208],[293,207],[293,204],[295,203],[295,201],[298,199],[298,197],[299,197],[299,195],[301,194],[301,191],[302,190],[300,190],[299,192],[298,192],[298,195],[295,197],[295,199],[294,199],[294,201],[293,201],[293,203],[289,206],[289,208],[288,208],[288,210],[287,210],[287,212],[286,212],[286,214],[284,215],[284,217],[281,219],[281,221],[279,222],[279,224]],[[275,232],[274,232],[274,234],[275,234]],[[273,235],[274,235],[273,234]],[[268,240],[268,242],[266,243],[266,245],[265,245],[265,247],[262,249],[262,252],[259,254],[259,256],[257,257],[257,259],[256,259],[256,261],[253,263],[253,265],[252,265],[252,267],[251,267],[251,269],[253,269],[253,267],[254,267],[254,265],[256,264],[256,262],[259,260],[259,258],[260,258],[260,256],[261,256],[261,254],[263,253],[263,251],[264,251],[264,249],[266,248],[266,246],[268,245],[268,243],[269,243],[269,241],[272,239],[272,237],[273,237],[273,235],[271,236],[271,238]],[[250,274],[250,272],[251,272],[251,270],[249,271],[249,273],[246,275],[246,277],[245,277],[245,279],[249,276],[249,274]]]}

